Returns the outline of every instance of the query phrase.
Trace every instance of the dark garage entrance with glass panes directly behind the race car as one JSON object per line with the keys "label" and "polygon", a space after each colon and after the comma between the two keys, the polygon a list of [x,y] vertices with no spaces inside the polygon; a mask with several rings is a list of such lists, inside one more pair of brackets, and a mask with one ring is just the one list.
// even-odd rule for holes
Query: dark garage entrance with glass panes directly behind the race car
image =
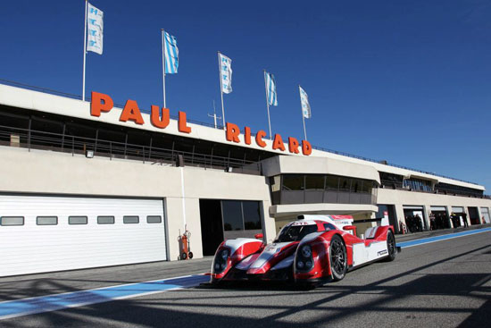
{"label": "dark garage entrance with glass panes directly behind the race car", "polygon": [[200,199],[199,210],[204,256],[214,255],[223,240],[264,233],[260,201]]}

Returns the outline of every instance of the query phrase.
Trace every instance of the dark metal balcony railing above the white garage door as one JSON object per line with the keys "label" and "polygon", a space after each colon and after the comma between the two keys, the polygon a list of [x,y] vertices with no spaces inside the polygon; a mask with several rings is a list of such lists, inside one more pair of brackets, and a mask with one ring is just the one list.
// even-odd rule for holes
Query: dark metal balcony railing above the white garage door
{"label": "dark metal balcony railing above the white garage door", "polygon": [[40,130],[0,125],[0,145],[51,150],[71,154],[135,160],[168,166],[196,166],[210,169],[260,174],[260,164],[233,157],[212,156],[162,147],[142,146],[126,142],[59,134]]}

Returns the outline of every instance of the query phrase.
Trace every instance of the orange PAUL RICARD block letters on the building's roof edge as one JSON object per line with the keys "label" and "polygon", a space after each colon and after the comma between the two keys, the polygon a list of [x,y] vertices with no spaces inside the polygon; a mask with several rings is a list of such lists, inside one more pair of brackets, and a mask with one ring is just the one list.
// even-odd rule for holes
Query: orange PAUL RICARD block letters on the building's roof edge
{"label": "orange PAUL RICARD block letters on the building's roof edge", "polygon": [[[112,110],[114,103],[112,98],[100,92],[92,91],[92,99],[90,101],[90,114],[92,116],[99,117],[102,113],[107,113]],[[138,108],[137,101],[127,100],[126,104],[120,115],[120,122],[134,122],[138,125],[145,125],[146,122]],[[171,121],[171,114],[169,108],[163,108],[162,110],[157,105],[151,105],[150,123],[158,129],[165,129]],[[240,143],[239,135],[240,129],[237,124],[226,122],[225,123],[225,139],[229,142]],[[191,133],[191,127],[187,125],[186,112],[180,112],[178,116],[178,130],[181,133]],[[251,128],[245,126],[244,128],[244,143],[245,145],[251,145],[253,143],[253,135]],[[254,143],[259,147],[267,147],[267,143],[263,140],[266,137],[264,130],[259,130],[254,136]],[[288,137],[287,147],[279,134],[275,134],[271,149],[279,151],[288,151],[291,154],[300,154],[309,156],[312,154],[312,146],[307,140],[302,140],[300,143],[293,137]]]}

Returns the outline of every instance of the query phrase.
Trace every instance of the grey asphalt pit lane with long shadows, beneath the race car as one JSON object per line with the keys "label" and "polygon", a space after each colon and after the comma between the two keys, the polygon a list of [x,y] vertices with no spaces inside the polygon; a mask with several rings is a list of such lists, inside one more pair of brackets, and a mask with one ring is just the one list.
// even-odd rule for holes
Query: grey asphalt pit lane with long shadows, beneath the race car
{"label": "grey asphalt pit lane with long shadows, beneath the race car", "polygon": [[[489,326],[491,231],[481,230],[477,234],[456,237],[451,240],[436,237],[422,244],[410,241],[412,244],[406,244],[395,262],[365,266],[348,273],[341,282],[315,290],[270,286],[182,289],[192,285],[186,277],[142,285],[146,276],[152,274],[138,267],[142,274],[134,277],[137,283],[127,279],[129,283],[122,290],[138,290],[142,296],[128,299],[118,294],[123,292],[121,287],[117,291],[107,288],[111,286],[110,282],[114,285],[123,281],[117,278],[109,281],[104,274],[110,271],[72,273],[71,277],[78,278],[73,282],[64,279],[62,284],[60,277],[54,277],[53,283],[45,281],[45,284],[50,286],[47,289],[50,294],[68,291],[69,295],[76,295],[81,299],[74,303],[78,307],[7,318],[0,321],[0,326]],[[209,261],[202,262],[204,267],[209,265]],[[196,263],[193,269],[199,271],[200,262]],[[128,269],[126,274],[129,273],[135,275],[135,271]],[[84,274],[90,274],[90,277],[81,279]],[[125,277],[125,273],[121,273],[121,277]],[[206,278],[201,276],[201,279]],[[0,318],[2,314],[8,315],[2,312],[7,308],[5,304],[10,305],[11,310],[15,308],[12,307],[14,302],[18,302],[16,307],[26,307],[29,302],[26,303],[25,297],[46,295],[46,288],[32,290],[32,282],[38,284],[39,278],[18,282],[4,278],[0,281],[0,299],[4,300],[0,303]],[[153,283],[162,290],[154,290]],[[84,286],[103,287],[109,294],[79,291]],[[70,288],[67,290],[67,287]],[[116,294],[111,294],[114,292]],[[80,306],[85,298],[90,300],[95,295],[101,298],[99,302],[91,304],[89,301]],[[111,299],[120,300],[108,301]],[[66,306],[62,303],[66,299],[44,300],[45,305]],[[30,306],[37,308],[36,302]],[[29,312],[29,307],[25,309]]]}

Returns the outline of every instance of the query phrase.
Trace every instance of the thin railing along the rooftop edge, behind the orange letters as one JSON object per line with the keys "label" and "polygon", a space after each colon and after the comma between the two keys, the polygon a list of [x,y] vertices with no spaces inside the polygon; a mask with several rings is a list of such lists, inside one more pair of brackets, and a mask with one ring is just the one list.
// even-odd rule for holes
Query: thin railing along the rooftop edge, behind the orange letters
{"label": "thin railing along the rooftop edge, behind the orange letters", "polygon": [[[27,88],[29,90],[44,92],[44,93],[55,95],[55,96],[69,97],[69,98],[78,99],[78,100],[81,100],[82,99],[82,97],[80,97],[78,95],[64,93],[64,92],[56,91],[56,90],[50,89],[50,88],[40,88],[40,87],[30,86],[28,84],[19,83],[19,82],[15,82],[15,81],[12,81],[12,80],[0,79],[0,82],[3,83],[3,84],[5,84],[5,85],[10,85],[12,87]],[[86,97],[86,100],[87,101],[90,101],[90,97]],[[119,104],[114,104],[114,105],[116,105],[118,107],[121,107],[121,108],[124,107],[124,105],[119,105]],[[147,113],[147,114],[150,113],[150,111],[148,111],[146,109],[140,109],[140,110],[142,112],[144,112],[144,113]],[[173,115],[171,115],[171,118],[174,119],[174,120],[177,120],[178,119],[177,116],[173,116]],[[205,126],[205,127],[215,128],[214,124],[212,124],[212,123],[199,122],[199,121],[192,120],[192,119],[187,119],[187,122],[194,123],[194,124],[197,124],[197,125],[202,125],[202,126]],[[217,129],[223,129],[223,125],[220,125],[219,124],[219,125],[217,125],[216,128]],[[241,133],[244,133],[244,130],[241,130]],[[254,136],[255,133],[252,133],[252,135]],[[325,147],[312,146],[312,148],[313,149],[316,149],[316,150],[324,151],[324,152],[327,152],[327,153],[336,154],[336,155],[340,155],[340,156],[347,156],[347,157],[357,158],[357,159],[361,159],[363,161],[368,161],[368,162],[372,162],[372,163],[376,163],[376,164],[385,164],[387,166],[398,167],[398,168],[405,169],[405,170],[410,170],[410,171],[413,171],[413,172],[420,172],[420,173],[430,174],[430,175],[433,175],[433,176],[438,176],[438,177],[445,178],[445,179],[451,179],[451,180],[454,180],[454,181],[461,181],[461,182],[467,182],[467,183],[477,184],[477,183],[474,183],[474,182],[464,181],[464,180],[461,180],[461,179],[452,178],[452,177],[449,177],[449,176],[446,176],[446,175],[443,175],[443,174],[438,174],[438,173],[435,173],[435,172],[421,171],[421,170],[413,169],[413,168],[410,168],[410,167],[407,167],[407,166],[398,165],[398,164],[392,164],[392,163],[387,163],[385,161],[379,161],[379,160],[375,160],[375,159],[372,159],[372,158],[369,158],[369,157],[364,157],[364,156],[356,156],[356,155],[353,155],[353,154],[349,154],[349,153],[345,153],[345,152],[342,152],[342,151],[337,151],[337,150],[333,150],[333,149],[329,149],[329,148],[325,148]]]}

